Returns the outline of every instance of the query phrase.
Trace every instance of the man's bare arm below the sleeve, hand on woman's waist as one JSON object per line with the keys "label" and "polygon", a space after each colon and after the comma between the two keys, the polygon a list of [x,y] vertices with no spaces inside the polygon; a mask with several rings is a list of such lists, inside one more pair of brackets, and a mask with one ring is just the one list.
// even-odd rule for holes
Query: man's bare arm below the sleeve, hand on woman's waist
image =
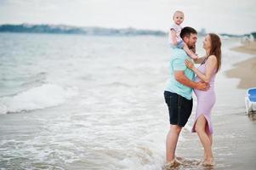
{"label": "man's bare arm below the sleeve, hand on woman's waist", "polygon": [[205,82],[193,82],[185,76],[184,71],[174,71],[175,79],[190,88],[196,88],[198,90],[206,91],[210,86]]}

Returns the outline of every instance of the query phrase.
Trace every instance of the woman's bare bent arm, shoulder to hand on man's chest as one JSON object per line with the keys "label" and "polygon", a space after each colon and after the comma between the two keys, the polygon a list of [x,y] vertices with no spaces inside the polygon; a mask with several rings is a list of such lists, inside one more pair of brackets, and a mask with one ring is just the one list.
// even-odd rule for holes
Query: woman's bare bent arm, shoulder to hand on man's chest
{"label": "woman's bare bent arm, shoulder to hand on man's chest", "polygon": [[214,55],[208,57],[208,64],[206,65],[206,72],[203,74],[201,71],[198,71],[189,60],[185,60],[185,65],[196,73],[196,76],[201,78],[203,82],[210,82],[213,75],[213,71],[216,69],[217,59]]}

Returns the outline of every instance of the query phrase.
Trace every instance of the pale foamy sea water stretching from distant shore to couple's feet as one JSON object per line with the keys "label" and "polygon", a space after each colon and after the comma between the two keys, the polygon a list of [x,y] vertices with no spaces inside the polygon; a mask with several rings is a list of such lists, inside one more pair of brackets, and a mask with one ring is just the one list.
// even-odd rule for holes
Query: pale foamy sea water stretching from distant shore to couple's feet
{"label": "pale foamy sea water stretching from distant shore to couple's feet", "polygon": [[[166,40],[0,34],[0,167],[162,169],[168,132]],[[199,54],[201,43],[199,38]],[[250,57],[228,49],[236,44],[224,42],[224,71]],[[215,120],[244,112],[244,91],[224,71],[216,79]],[[180,144],[199,144],[188,137],[192,119]],[[223,126],[225,120],[213,123]]]}

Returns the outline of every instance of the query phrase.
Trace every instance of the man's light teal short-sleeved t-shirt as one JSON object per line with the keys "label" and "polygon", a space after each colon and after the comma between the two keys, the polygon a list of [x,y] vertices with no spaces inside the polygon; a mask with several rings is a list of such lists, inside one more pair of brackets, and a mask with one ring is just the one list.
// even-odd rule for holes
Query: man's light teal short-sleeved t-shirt
{"label": "man's light teal short-sleeved t-shirt", "polygon": [[186,67],[185,59],[191,60],[191,58],[185,53],[183,49],[173,48],[173,53],[169,65],[170,75],[166,91],[179,94],[186,99],[192,99],[192,88],[176,81],[174,77],[174,71],[184,71],[185,76],[188,77],[191,81],[194,81],[195,74],[193,71]]}

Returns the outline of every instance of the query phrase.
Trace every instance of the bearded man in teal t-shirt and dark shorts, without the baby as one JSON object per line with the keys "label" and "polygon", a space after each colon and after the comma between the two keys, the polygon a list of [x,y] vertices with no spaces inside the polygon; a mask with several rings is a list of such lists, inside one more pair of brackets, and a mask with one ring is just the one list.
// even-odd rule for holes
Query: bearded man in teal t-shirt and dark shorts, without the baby
{"label": "bearded man in teal t-shirt and dark shorts, without the baby", "polygon": [[[194,49],[196,47],[197,32],[187,26],[180,32],[185,44]],[[170,59],[170,76],[168,87],[164,92],[165,102],[168,105],[170,129],[166,140],[165,167],[178,167],[181,163],[175,158],[176,145],[179,133],[185,126],[193,107],[192,88],[207,90],[205,82],[193,82],[195,74],[185,66],[185,59],[190,59],[183,49],[174,48]]]}

